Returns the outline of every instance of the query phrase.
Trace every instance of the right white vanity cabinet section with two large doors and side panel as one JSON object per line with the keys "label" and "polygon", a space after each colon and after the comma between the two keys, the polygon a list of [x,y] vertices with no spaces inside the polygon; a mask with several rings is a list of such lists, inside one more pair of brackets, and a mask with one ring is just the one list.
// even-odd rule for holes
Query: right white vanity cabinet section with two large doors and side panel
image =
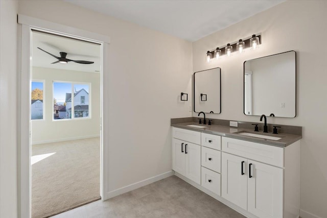
{"label": "right white vanity cabinet section with two large doors and side panel", "polygon": [[221,196],[258,217],[297,217],[298,156],[297,142],[282,148],[222,137]]}

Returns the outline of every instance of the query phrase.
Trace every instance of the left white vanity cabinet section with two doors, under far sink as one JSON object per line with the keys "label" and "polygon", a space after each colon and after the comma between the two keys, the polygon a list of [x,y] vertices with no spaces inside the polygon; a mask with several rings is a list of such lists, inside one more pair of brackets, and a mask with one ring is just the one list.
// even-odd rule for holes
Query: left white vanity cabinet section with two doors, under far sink
{"label": "left white vanity cabinet section with two doors, under far sink", "polygon": [[172,168],[198,184],[201,184],[200,142],[200,132],[173,127]]}

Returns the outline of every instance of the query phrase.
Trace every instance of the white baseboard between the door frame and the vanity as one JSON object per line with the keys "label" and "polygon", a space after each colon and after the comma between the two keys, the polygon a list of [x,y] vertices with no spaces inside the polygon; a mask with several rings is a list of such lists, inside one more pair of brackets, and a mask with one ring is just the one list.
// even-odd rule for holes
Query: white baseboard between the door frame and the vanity
{"label": "white baseboard between the door frame and the vanity", "polygon": [[170,177],[172,175],[174,175],[174,172],[169,171],[169,172],[166,172],[166,173],[159,174],[157,176],[151,177],[149,179],[145,179],[143,181],[139,181],[139,182],[127,185],[125,187],[122,187],[122,188],[119,188],[119,189],[116,189],[116,190],[113,190],[113,191],[106,192],[105,196],[102,198],[102,200],[103,201],[108,200],[110,198],[122,195],[123,193],[126,193],[128,191],[134,190],[136,188],[141,188],[142,186],[151,184],[151,183],[159,181],[161,179],[165,179],[165,178]]}

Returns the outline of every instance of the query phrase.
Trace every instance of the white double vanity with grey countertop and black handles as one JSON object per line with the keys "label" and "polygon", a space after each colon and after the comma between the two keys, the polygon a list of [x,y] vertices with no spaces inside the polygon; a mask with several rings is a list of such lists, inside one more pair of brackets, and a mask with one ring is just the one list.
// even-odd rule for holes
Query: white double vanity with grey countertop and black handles
{"label": "white double vanity with grey countertop and black handles", "polygon": [[247,217],[299,216],[300,127],[270,134],[195,119],[171,120],[176,176]]}

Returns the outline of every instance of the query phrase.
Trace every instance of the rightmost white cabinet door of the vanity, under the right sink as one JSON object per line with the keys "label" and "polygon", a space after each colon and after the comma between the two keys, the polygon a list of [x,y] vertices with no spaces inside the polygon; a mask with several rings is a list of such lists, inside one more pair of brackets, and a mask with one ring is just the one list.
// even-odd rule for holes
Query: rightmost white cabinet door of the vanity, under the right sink
{"label": "rightmost white cabinet door of the vanity, under the right sink", "polygon": [[[248,160],[248,211],[259,217],[283,217],[283,169]],[[250,168],[249,168],[250,171]]]}

